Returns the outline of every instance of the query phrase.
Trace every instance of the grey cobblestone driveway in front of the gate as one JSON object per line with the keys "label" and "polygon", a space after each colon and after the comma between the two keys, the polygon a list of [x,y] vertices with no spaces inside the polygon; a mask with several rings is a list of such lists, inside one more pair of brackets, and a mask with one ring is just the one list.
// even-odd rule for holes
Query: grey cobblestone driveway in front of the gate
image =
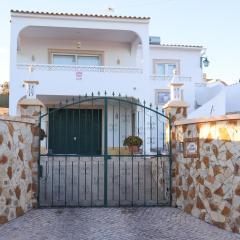
{"label": "grey cobblestone driveway in front of the gate", "polygon": [[0,227],[1,240],[235,240],[174,208],[34,210]]}

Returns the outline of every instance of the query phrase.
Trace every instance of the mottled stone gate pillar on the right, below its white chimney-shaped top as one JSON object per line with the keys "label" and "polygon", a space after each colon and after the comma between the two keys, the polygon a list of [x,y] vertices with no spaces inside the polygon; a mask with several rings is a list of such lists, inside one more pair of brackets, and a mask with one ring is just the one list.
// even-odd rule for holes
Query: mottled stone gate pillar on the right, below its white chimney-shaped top
{"label": "mottled stone gate pillar on the right, below its white chimney-shaped top", "polygon": [[[176,128],[174,126],[174,122],[177,120],[181,120],[187,117],[187,103],[181,100],[172,100],[163,106],[164,112],[166,116],[170,116],[172,128],[171,128],[171,148],[172,148],[172,206],[176,206],[176,194],[177,188],[175,184],[175,177],[178,175],[178,163],[176,161],[177,154],[177,144],[176,144]],[[166,126],[166,131],[169,131],[169,126]],[[168,134],[166,134],[168,136]],[[169,139],[167,139],[169,141]]]}

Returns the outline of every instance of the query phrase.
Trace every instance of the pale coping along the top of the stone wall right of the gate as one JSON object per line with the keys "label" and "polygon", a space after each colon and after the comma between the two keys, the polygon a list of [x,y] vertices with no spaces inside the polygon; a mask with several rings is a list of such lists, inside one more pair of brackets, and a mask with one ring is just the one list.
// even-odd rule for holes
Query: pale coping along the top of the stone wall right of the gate
{"label": "pale coping along the top of the stone wall right of the gate", "polygon": [[240,114],[229,114],[229,115],[222,115],[217,117],[206,117],[206,118],[195,118],[195,119],[183,119],[174,122],[175,126],[178,125],[189,125],[195,123],[207,123],[207,122],[214,122],[214,121],[228,121],[228,120],[240,120]]}

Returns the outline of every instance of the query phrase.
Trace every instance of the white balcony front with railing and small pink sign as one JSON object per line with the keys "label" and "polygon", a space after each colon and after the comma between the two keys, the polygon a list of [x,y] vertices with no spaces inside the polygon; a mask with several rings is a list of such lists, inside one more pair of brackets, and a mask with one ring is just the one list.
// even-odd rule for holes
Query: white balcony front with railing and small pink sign
{"label": "white balcony front with railing and small pink sign", "polygon": [[111,66],[17,64],[19,82],[37,80],[37,94],[82,95],[117,91],[129,96],[144,85],[142,69]]}

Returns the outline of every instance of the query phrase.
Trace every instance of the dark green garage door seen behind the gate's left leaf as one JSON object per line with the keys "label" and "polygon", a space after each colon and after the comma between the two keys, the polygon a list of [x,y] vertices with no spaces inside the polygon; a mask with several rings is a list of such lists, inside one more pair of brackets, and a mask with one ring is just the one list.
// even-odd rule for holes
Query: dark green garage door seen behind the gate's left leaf
{"label": "dark green garage door seen behind the gate's left leaf", "polygon": [[101,109],[61,109],[49,115],[50,153],[99,155],[101,150]]}

